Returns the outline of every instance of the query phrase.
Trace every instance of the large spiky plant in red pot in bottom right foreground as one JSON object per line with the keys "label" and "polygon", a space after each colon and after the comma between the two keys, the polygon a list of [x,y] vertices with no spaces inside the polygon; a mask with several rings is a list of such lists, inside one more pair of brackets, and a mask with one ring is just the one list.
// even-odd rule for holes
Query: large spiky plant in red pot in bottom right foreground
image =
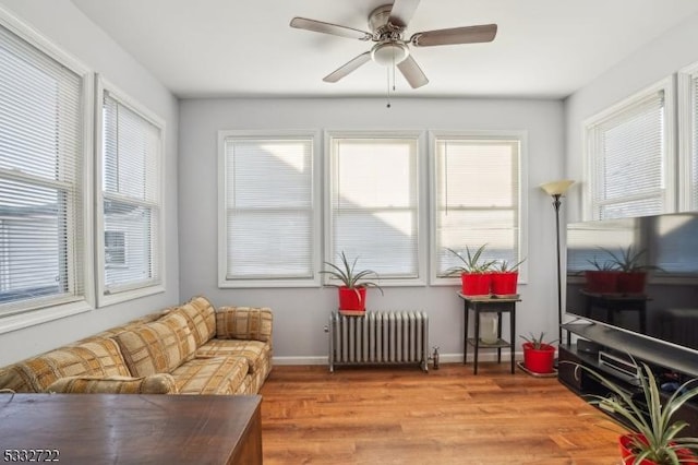
{"label": "large spiky plant in red pot in bottom right foreground", "polygon": [[[635,362],[635,360],[634,360]],[[696,380],[688,380],[671,395],[662,395],[657,379],[647,363],[635,362],[639,373],[639,392],[628,392],[595,370],[577,365],[609,389],[607,395],[589,395],[591,403],[613,414],[616,420],[629,426],[618,446],[625,465],[698,464],[698,438],[679,438],[688,425],[674,420],[674,414],[688,401],[698,396]]]}

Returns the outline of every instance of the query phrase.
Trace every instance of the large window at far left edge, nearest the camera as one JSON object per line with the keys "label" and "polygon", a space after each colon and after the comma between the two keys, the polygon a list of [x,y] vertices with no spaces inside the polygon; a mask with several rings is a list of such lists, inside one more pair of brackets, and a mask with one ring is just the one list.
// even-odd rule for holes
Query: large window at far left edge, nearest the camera
{"label": "large window at far left edge, nearest the camera", "polygon": [[91,308],[88,71],[0,14],[0,331]]}

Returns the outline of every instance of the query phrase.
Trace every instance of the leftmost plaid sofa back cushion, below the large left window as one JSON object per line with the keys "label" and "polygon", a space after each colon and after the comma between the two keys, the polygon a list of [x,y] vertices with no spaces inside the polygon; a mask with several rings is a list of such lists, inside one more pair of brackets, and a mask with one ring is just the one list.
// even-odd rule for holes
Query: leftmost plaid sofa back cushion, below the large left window
{"label": "leftmost plaid sofa back cushion, below the large left window", "polygon": [[15,392],[44,392],[59,378],[130,374],[115,341],[92,339],[14,363],[0,374],[0,385]]}

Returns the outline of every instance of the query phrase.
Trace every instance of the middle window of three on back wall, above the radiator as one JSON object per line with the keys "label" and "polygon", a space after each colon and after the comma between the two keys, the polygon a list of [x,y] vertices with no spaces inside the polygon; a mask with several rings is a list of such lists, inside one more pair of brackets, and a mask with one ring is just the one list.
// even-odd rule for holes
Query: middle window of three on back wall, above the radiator
{"label": "middle window of three on back wall, above the radiator", "polygon": [[423,279],[419,133],[330,133],[326,261],[344,251],[383,284]]}

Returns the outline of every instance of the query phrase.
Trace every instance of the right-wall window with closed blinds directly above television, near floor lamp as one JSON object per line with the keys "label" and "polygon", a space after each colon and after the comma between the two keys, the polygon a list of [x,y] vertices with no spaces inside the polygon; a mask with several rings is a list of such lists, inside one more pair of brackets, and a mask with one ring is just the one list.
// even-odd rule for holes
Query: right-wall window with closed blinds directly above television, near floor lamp
{"label": "right-wall window with closed blinds directly above television, near floor lamp", "polygon": [[675,210],[671,80],[585,123],[591,219]]}

